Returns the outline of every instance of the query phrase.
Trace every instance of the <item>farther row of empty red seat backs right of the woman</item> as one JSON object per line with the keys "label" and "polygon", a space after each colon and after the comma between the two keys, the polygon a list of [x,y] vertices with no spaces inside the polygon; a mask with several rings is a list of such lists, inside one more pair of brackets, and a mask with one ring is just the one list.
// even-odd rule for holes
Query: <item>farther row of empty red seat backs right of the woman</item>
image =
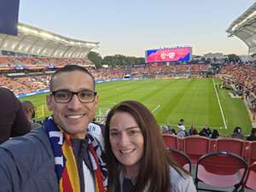
{"label": "farther row of empty red seat backs right of the woman", "polygon": [[179,138],[168,134],[164,134],[163,139],[166,147],[176,148],[187,154],[192,164],[195,164],[202,155],[214,151],[238,154],[247,161],[248,165],[256,161],[256,142],[248,142],[236,138],[210,139],[200,136]]}

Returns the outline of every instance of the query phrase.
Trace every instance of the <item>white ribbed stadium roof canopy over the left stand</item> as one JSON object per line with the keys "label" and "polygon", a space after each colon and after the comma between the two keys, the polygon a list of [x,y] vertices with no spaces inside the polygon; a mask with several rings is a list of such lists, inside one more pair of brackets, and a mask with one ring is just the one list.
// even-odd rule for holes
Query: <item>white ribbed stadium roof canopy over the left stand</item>
{"label": "white ribbed stadium roof canopy over the left stand", "polygon": [[0,33],[0,50],[30,55],[84,58],[90,49],[99,48],[99,44],[99,42],[66,38],[23,23],[18,24],[18,36]]}

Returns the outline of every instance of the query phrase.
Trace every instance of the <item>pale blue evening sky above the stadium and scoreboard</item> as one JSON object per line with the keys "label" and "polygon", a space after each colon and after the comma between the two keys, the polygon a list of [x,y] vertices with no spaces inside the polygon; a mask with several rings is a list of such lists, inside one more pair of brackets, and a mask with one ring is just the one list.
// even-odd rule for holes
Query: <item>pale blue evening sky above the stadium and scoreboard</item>
{"label": "pale blue evening sky above the stadium and scoreboard", "polygon": [[100,55],[192,46],[193,55],[247,55],[226,29],[255,0],[20,0],[19,21],[67,38],[100,42]]}

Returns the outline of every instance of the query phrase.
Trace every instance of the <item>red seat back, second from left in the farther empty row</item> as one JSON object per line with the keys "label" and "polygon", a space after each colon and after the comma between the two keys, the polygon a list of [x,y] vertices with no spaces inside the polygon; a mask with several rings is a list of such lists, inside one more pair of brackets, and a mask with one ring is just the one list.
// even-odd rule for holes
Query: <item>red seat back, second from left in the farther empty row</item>
{"label": "red seat back, second from left in the farther empty row", "polygon": [[183,152],[189,156],[192,164],[203,154],[209,153],[210,139],[207,137],[190,136],[183,138]]}

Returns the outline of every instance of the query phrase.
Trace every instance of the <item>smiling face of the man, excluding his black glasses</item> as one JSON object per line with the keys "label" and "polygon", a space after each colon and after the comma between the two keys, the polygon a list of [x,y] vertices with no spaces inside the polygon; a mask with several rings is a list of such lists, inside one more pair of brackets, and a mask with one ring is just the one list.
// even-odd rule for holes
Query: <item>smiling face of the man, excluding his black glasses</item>
{"label": "smiling face of the man, excluding his black glasses", "polygon": [[[94,84],[89,74],[80,71],[64,72],[54,77],[52,91],[55,90],[94,91]],[[97,102],[98,96],[94,102],[89,103],[80,102],[77,95],[73,95],[68,103],[58,103],[53,95],[47,96],[47,105],[53,113],[55,124],[61,126],[71,137],[79,139],[86,135],[87,125],[95,116]]]}

